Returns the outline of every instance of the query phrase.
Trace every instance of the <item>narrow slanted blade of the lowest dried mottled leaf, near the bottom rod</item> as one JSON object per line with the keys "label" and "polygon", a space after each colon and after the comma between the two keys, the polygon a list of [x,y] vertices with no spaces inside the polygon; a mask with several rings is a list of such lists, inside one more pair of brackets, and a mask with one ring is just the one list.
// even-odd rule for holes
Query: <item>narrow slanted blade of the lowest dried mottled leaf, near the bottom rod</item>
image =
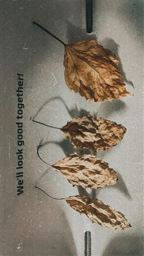
{"label": "narrow slanted blade of the lowest dried mottled leaf, near the bottom rod", "polygon": [[101,200],[88,199],[85,196],[71,196],[65,199],[74,210],[86,214],[90,221],[103,227],[113,229],[126,229],[131,227],[124,214],[104,205]]}

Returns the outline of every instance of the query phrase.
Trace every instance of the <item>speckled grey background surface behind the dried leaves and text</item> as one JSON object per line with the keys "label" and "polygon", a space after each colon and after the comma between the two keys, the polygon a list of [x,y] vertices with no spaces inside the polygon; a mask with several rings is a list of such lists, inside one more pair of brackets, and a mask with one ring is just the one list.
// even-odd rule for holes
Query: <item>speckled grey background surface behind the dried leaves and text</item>
{"label": "speckled grey background surface behind the dried leaves and text", "polygon": [[[92,256],[140,256],[143,221],[143,1],[94,1],[93,34],[85,29],[85,1],[31,0],[1,3],[1,256],[82,256],[84,232],[92,232]],[[92,103],[68,90],[63,76],[63,46],[32,25],[35,20],[66,43],[97,38],[120,58],[120,70],[134,97]],[[24,194],[16,195],[17,73],[24,74]],[[37,157],[56,163],[76,151],[59,131],[32,123],[34,117],[62,126],[90,112],[122,123],[121,144],[98,153],[117,170],[117,185],[96,191],[98,199],[123,212],[131,229],[92,224],[63,200],[78,194],[67,180]],[[80,192],[81,189],[80,189]],[[88,190],[90,192],[90,190]]]}

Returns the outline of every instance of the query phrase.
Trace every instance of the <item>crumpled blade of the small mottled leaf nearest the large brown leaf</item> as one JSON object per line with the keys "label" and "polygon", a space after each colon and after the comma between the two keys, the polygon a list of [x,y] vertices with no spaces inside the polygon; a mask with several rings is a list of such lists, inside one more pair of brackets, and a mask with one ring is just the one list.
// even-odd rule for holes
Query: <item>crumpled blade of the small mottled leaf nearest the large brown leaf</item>
{"label": "crumpled blade of the small mottled leaf nearest the large brown leaf", "polygon": [[96,151],[112,148],[123,139],[126,133],[123,125],[90,116],[73,119],[61,130],[76,147]]}

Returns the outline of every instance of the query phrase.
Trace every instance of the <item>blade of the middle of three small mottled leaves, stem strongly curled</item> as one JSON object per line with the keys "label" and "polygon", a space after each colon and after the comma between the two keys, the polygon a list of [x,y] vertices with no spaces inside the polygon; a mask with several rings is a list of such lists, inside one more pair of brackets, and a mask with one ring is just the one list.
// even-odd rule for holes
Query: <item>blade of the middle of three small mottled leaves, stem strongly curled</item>
{"label": "blade of the middle of three small mottled leaves, stem strongly curled", "polygon": [[114,185],[117,180],[117,173],[110,169],[109,165],[94,155],[72,154],[53,164],[52,167],[58,170],[74,186],[82,188],[104,188]]}

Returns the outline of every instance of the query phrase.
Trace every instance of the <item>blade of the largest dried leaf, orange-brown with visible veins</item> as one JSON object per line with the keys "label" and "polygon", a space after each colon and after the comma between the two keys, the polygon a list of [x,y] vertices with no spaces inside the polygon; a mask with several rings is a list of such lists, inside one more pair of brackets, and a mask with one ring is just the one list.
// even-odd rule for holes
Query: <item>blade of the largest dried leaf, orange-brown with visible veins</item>
{"label": "blade of the largest dried leaf, orange-brown with visible veins", "polygon": [[65,46],[63,65],[67,86],[87,100],[117,100],[132,95],[126,91],[117,64],[115,54],[96,40]]}

